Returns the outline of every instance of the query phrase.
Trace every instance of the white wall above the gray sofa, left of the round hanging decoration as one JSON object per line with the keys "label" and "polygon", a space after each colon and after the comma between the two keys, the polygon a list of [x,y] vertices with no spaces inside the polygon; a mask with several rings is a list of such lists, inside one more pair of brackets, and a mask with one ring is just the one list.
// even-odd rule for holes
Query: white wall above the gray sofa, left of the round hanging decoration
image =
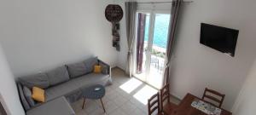
{"label": "white wall above the gray sofa, left of the round hanging decoration", "polygon": [[1,0],[0,42],[15,77],[92,55],[115,66],[110,0]]}

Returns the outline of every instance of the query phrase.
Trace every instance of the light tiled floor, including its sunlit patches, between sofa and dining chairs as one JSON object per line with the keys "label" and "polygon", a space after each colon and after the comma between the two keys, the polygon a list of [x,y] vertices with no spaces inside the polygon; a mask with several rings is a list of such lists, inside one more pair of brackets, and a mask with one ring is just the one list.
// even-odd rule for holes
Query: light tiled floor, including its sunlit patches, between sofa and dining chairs
{"label": "light tiled floor, including its sunlit patches, between sofa and dining chairs", "polygon": [[[77,115],[147,115],[147,100],[157,92],[147,84],[129,78],[119,68],[112,71],[113,84],[106,87],[106,95],[102,98],[106,113],[103,112],[101,101],[86,100],[82,109],[83,99],[74,102],[73,110]],[[178,103],[171,98],[171,101]]]}

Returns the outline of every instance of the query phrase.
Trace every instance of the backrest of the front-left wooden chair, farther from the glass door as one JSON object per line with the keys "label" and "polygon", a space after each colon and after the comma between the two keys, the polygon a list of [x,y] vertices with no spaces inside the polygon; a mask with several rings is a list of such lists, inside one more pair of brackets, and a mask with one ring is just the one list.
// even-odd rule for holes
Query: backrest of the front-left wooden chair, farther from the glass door
{"label": "backrest of the front-left wooden chair, farther from the glass door", "polygon": [[148,99],[148,115],[154,113],[160,113],[160,95],[159,92]]}

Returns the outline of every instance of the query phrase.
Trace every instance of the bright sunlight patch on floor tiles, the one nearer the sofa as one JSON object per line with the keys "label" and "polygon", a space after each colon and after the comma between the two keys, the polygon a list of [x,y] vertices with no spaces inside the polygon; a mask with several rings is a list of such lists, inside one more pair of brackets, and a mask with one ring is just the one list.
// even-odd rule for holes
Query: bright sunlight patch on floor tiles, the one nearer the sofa
{"label": "bright sunlight patch on floor tiles, the one nearer the sofa", "polygon": [[119,86],[120,89],[125,90],[128,94],[130,94],[134,89],[137,89],[143,82],[137,80],[136,78],[131,78],[128,82],[123,83]]}

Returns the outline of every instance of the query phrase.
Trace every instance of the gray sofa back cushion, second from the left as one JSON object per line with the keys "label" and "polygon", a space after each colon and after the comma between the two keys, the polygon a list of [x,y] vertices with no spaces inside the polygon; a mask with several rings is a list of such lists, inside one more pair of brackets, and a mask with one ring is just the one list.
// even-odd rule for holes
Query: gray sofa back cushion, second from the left
{"label": "gray sofa back cushion, second from the left", "polygon": [[49,78],[49,85],[56,85],[68,81],[69,75],[66,66],[55,68],[52,71],[46,72]]}

